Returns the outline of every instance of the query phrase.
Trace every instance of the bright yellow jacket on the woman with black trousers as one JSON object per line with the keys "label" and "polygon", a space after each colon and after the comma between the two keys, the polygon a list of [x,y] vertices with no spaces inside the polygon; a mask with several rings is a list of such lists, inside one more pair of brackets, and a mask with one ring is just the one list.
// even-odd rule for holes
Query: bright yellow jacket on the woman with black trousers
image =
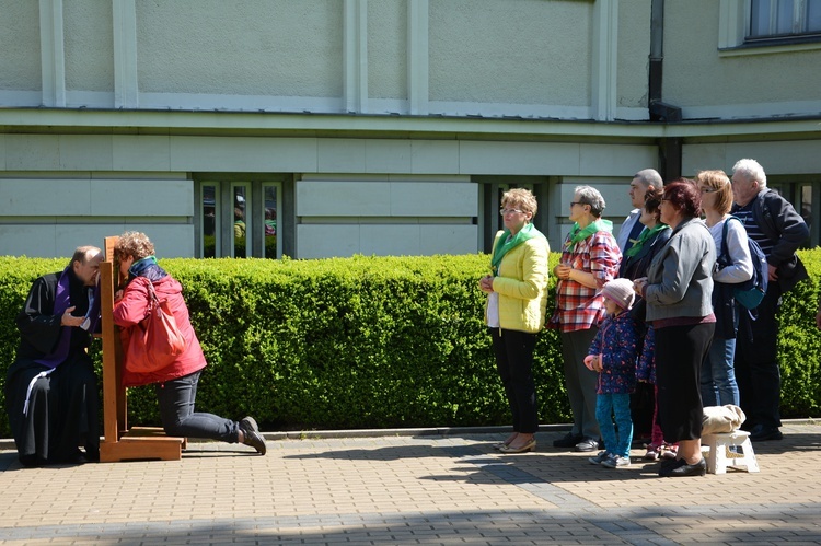
{"label": "bright yellow jacket on the woman with black trousers", "polygon": [[[502,235],[496,234],[496,243]],[[509,251],[494,278],[494,292],[499,293],[499,326],[534,334],[544,328],[547,309],[547,255],[550,244],[544,237],[525,241]],[[487,323],[487,304],[485,304]]]}

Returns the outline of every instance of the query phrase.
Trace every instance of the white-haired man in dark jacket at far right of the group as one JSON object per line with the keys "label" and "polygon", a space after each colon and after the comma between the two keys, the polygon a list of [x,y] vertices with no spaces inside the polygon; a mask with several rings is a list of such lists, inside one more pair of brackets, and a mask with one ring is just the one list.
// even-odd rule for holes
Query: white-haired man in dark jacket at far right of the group
{"label": "white-haired man in dark jacket at far right of the group", "polygon": [[736,379],[744,429],[752,441],[780,440],[780,371],[778,369],[778,306],[783,293],[807,279],[796,251],[809,236],[803,218],[793,205],[766,187],[764,169],[744,159],[732,167],[732,213],[767,258],[770,282],[756,320],[742,312],[736,344]]}

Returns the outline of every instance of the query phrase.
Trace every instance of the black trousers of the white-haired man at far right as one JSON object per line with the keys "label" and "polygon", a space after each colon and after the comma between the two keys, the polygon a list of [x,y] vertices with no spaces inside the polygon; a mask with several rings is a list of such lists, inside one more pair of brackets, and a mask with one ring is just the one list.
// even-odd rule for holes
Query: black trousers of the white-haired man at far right
{"label": "black trousers of the white-haired man at far right", "polygon": [[778,309],[782,290],[777,282],[767,286],[767,293],[753,312],[756,320],[741,310],[736,339],[736,382],[741,409],[747,416],[744,428],[752,430],[782,426],[782,375],[778,368]]}

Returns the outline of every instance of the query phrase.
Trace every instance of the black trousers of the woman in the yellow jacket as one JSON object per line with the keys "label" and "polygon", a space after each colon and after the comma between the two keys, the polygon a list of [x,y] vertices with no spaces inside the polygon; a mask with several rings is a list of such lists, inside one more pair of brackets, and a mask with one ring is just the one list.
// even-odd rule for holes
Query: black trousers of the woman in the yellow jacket
{"label": "black trousers of the woman in the yellow jacket", "polygon": [[496,355],[496,369],[513,414],[513,430],[532,434],[539,430],[536,384],[533,380],[536,335],[512,329],[488,329]]}

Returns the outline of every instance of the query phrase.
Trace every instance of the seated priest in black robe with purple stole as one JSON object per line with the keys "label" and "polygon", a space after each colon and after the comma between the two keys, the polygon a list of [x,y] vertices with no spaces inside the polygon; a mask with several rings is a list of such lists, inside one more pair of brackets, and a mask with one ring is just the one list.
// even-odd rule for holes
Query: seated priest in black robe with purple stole
{"label": "seated priest in black robe with purple stole", "polygon": [[78,247],[66,269],[34,281],[16,317],[21,340],[5,376],[5,409],[26,466],[100,460],[88,348],[100,322],[102,258],[95,246]]}

